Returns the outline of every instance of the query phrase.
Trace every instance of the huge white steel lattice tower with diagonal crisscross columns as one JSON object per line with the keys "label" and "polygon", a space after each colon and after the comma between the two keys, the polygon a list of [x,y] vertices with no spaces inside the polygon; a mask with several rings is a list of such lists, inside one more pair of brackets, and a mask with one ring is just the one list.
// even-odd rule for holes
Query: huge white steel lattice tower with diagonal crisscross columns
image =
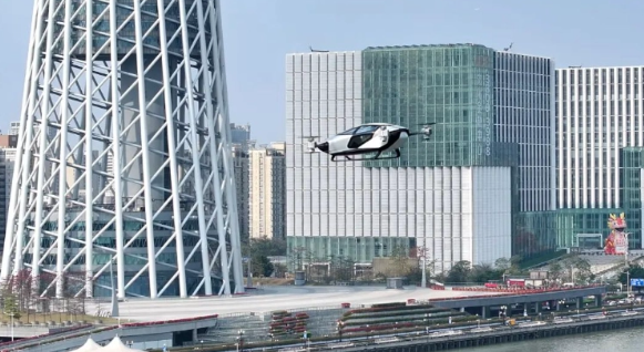
{"label": "huge white steel lattice tower with diagonal crisscross columns", "polygon": [[244,291],[218,0],[35,0],[0,280]]}

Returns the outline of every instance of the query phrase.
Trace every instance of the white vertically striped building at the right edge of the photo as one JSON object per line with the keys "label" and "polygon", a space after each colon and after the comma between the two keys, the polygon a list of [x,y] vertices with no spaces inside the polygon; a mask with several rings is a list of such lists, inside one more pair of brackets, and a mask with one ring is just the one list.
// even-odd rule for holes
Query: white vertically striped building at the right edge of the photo
{"label": "white vertically striped building at the right edge of the photo", "polygon": [[610,213],[625,211],[632,248],[642,246],[644,66],[556,70],[559,242],[606,235]]}

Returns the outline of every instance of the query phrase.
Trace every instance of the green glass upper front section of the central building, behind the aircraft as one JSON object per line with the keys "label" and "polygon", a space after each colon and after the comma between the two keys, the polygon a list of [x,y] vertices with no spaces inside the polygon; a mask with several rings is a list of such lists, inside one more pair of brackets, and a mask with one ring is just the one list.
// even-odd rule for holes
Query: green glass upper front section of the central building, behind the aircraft
{"label": "green glass upper front section of the central building, behind the aircraft", "polygon": [[364,121],[420,130],[399,159],[367,167],[493,166],[494,51],[481,45],[415,45],[364,51]]}

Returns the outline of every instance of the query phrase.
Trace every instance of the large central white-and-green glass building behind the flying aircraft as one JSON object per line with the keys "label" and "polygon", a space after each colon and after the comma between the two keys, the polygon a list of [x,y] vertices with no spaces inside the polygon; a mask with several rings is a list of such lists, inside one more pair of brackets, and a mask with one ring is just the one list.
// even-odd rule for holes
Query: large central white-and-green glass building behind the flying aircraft
{"label": "large central white-and-green glass building behind the flying aircraft", "polygon": [[[425,247],[437,270],[554,248],[553,62],[476,44],[286,60],[287,239],[316,260]],[[361,123],[419,128],[399,159],[333,163],[301,136]]]}

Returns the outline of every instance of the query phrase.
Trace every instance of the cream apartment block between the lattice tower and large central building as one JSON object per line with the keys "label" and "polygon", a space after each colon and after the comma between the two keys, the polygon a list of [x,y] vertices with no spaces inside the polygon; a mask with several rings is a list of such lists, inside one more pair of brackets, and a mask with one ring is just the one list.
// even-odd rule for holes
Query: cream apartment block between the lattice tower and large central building
{"label": "cream apartment block between the lattice tower and large central building", "polygon": [[284,238],[286,229],[286,144],[248,152],[248,221],[252,238]]}

